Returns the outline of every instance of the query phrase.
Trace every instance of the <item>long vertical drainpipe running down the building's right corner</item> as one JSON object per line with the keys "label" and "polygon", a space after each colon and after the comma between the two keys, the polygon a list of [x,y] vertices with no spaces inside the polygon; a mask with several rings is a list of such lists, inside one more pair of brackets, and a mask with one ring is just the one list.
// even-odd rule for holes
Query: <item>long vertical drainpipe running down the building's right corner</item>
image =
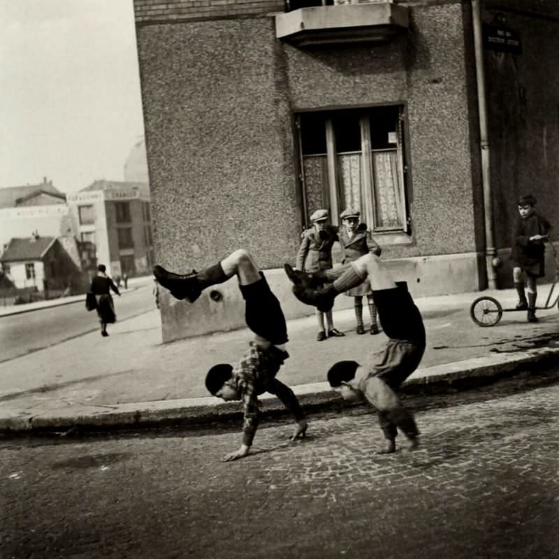
{"label": "long vertical drainpipe running down the building's right corner", "polygon": [[474,26],[474,52],[476,63],[477,106],[479,110],[479,139],[481,147],[481,185],[484,190],[485,262],[489,289],[497,289],[497,273],[493,267],[495,239],[493,237],[493,201],[491,199],[491,175],[489,173],[489,140],[484,72],[484,49],[481,37],[481,0],[472,1]]}

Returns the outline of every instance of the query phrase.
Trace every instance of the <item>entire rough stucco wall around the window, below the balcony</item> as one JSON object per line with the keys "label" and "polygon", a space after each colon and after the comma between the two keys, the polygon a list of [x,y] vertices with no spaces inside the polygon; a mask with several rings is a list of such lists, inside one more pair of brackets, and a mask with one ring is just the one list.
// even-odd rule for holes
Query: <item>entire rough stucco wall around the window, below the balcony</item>
{"label": "entire rough stucco wall around the window, below the balcony", "polygon": [[412,236],[386,256],[477,250],[463,6],[412,9],[387,45],[293,48],[273,17],[138,27],[156,255],[185,269],[237,247],[292,261],[293,112],[407,104]]}

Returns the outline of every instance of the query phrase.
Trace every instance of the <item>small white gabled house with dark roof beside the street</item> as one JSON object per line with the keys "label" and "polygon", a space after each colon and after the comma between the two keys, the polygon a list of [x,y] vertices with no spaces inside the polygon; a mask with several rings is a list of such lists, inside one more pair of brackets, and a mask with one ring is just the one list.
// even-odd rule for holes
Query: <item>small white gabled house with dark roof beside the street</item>
{"label": "small white gabled house with dark roof beside the street", "polygon": [[34,288],[56,295],[66,290],[83,293],[94,253],[81,248],[71,235],[56,238],[35,233],[29,238],[10,239],[0,263],[16,289]]}

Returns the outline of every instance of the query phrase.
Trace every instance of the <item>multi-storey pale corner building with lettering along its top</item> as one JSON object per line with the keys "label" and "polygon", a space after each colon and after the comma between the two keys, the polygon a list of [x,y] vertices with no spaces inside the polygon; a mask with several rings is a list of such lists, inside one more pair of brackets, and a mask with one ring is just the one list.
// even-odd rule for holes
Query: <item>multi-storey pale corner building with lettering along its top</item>
{"label": "multi-storey pale corner building with lettering along its top", "polygon": [[110,275],[147,273],[153,265],[150,190],[147,182],[96,180],[68,194],[81,242],[92,242]]}

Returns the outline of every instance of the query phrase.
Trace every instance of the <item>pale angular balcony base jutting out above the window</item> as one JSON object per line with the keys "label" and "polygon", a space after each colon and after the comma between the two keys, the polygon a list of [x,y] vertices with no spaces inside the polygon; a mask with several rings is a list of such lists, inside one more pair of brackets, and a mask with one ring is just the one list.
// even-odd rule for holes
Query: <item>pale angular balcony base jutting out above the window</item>
{"label": "pale angular balcony base jutting out above the window", "polygon": [[384,43],[408,27],[408,8],[390,1],[312,6],[275,16],[276,37],[299,47]]}

